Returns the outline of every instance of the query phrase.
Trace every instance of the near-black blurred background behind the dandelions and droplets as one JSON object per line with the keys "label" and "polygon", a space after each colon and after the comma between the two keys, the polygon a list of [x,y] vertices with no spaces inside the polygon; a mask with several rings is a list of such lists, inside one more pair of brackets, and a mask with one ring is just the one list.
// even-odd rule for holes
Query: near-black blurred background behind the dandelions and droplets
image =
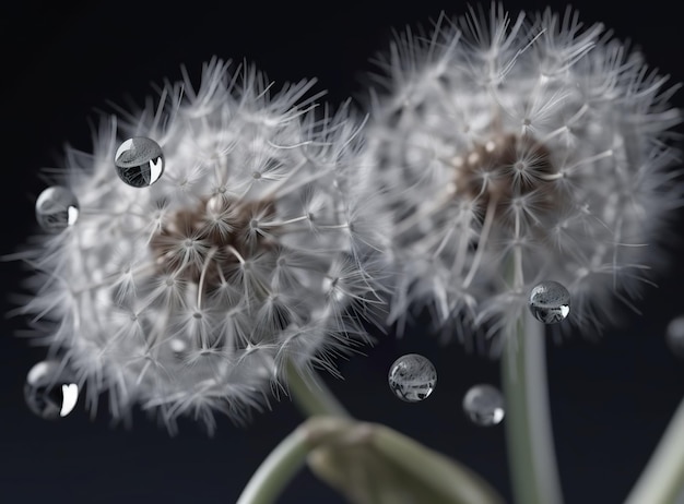
{"label": "near-black blurred background behind the dandelions and droplets", "polygon": [[[317,91],[339,104],[363,95],[362,76],[392,28],[428,25],[441,10],[465,13],[465,2],[24,2],[3,7],[2,170],[0,254],[12,252],[34,230],[34,200],[44,189],[40,167],[58,166],[62,144],[89,151],[89,118],[106,100],[125,105],[152,93],[150,83],[180,77],[180,64],[199,75],[212,56],[246,59],[276,83],[318,77]],[[641,47],[651,65],[684,80],[682,19],[674,4],[651,0],[627,4],[575,1],[587,23],[602,21],[617,37]],[[613,7],[620,5],[620,7]],[[486,5],[485,5],[486,7]],[[538,10],[544,2],[506,3]],[[563,3],[553,5],[557,10]],[[197,82],[197,80],[196,80]],[[674,98],[682,107],[683,94]],[[673,248],[675,256],[682,250]],[[17,290],[16,264],[0,264],[2,286]],[[598,343],[580,335],[549,350],[551,406],[562,483],[567,503],[618,503],[639,475],[670,416],[684,395],[684,361],[664,345],[670,319],[684,312],[684,269],[674,262],[639,304],[625,313],[628,331],[606,332]],[[0,311],[8,311],[0,297]],[[71,416],[46,422],[25,407],[26,372],[44,357],[12,337],[21,320],[0,331],[0,502],[138,504],[233,503],[259,463],[302,420],[288,400],[258,415],[247,428],[220,419],[213,439],[190,421],[170,439],[145,417],[133,429],[110,428],[101,412],[90,421],[80,403]],[[437,389],[422,404],[396,399],[387,385],[390,363],[420,352],[438,371]],[[358,418],[386,423],[448,454],[496,487],[510,488],[504,427],[471,425],[460,408],[464,392],[480,382],[498,383],[498,365],[440,347],[424,327],[401,340],[380,338],[368,357],[341,363],[344,381],[330,385]],[[343,501],[304,470],[282,503]]]}

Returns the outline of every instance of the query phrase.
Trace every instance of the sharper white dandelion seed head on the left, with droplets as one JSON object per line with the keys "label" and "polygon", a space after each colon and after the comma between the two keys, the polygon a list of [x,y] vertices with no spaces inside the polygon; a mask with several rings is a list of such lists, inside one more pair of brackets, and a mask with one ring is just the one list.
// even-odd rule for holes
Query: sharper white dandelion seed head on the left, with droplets
{"label": "sharper white dandelion seed head on the left, with droplets", "polygon": [[180,415],[211,431],[213,411],[267,407],[285,358],[332,370],[361,341],[379,238],[356,217],[358,125],[314,110],[311,83],[271,87],[214,59],[199,88],[105,118],[40,196],[40,225],[70,232],[25,253],[22,311],[91,407],[108,391],[115,418],[138,404],[172,432]]}

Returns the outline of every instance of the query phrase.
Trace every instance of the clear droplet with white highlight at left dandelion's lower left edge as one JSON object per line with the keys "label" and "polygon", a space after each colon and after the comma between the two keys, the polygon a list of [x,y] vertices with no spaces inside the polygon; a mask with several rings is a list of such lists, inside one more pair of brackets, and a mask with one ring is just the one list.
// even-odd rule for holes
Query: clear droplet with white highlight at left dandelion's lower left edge
{"label": "clear droplet with white highlight at left dandelion's lower left edge", "polygon": [[54,360],[31,368],[24,384],[28,409],[45,420],[69,415],[79,400],[79,386],[69,379],[63,367]]}

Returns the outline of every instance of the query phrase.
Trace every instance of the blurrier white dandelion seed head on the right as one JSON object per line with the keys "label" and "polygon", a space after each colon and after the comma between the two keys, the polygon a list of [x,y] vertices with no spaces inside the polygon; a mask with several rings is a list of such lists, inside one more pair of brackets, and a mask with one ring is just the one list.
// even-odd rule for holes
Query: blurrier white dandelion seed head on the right
{"label": "blurrier white dandelion seed head on the right", "polygon": [[567,287],[588,332],[630,303],[682,203],[667,77],[571,9],[497,3],[406,31],[377,63],[391,322],[427,308],[447,338],[494,338],[541,280]]}

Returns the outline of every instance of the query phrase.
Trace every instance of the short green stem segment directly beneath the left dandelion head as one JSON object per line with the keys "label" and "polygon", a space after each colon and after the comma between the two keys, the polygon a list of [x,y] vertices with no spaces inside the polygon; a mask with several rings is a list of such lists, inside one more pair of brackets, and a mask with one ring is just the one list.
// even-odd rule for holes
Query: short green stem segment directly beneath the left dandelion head
{"label": "short green stem segment directly beneath the left dandelion head", "polygon": [[292,361],[288,361],[285,365],[290,393],[306,417],[328,416],[352,418],[344,406],[342,406],[314,371],[305,379]]}

